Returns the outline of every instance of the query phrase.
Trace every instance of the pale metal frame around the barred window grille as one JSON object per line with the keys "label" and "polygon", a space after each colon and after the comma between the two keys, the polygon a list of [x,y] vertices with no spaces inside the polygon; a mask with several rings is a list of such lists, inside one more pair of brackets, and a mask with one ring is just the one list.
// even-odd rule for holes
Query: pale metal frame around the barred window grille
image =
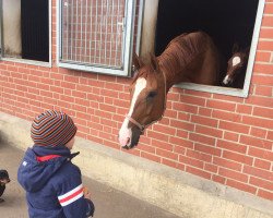
{"label": "pale metal frame around the barred window grille", "polygon": [[[123,66],[121,69],[111,69],[106,66],[87,65],[80,64],[78,62],[62,62],[61,61],[61,40],[62,40],[62,29],[61,29],[61,0],[57,0],[57,65],[60,68],[110,74],[118,76],[131,76],[131,60],[133,50],[133,35],[134,35],[134,20],[135,20],[135,0],[126,0],[126,13],[124,13],[124,26],[123,26],[123,50],[122,60]],[[131,14],[131,15],[130,15]]]}

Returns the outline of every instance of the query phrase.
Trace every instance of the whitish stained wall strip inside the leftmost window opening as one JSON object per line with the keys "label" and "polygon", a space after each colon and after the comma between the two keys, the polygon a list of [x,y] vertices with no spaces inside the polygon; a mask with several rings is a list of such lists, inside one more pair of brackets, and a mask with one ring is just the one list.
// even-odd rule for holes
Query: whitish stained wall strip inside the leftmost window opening
{"label": "whitish stained wall strip inside the leftmost window opening", "polygon": [[21,1],[2,0],[3,2],[3,47],[5,57],[21,57]]}

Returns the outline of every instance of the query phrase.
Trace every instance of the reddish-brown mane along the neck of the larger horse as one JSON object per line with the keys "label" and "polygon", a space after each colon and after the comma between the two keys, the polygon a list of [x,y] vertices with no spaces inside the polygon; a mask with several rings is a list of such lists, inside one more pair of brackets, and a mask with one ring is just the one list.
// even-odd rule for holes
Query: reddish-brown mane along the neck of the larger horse
{"label": "reddish-brown mane along the neck of the larger horse", "polygon": [[182,34],[174,38],[158,57],[159,64],[169,73],[175,74],[177,70],[187,66],[198,55],[205,51],[207,39],[205,33]]}

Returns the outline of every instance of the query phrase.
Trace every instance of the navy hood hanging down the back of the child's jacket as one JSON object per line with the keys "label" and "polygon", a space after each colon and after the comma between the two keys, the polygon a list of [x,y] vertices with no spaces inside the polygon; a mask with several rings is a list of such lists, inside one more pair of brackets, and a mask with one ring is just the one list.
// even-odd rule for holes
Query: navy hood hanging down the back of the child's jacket
{"label": "navy hood hanging down the back of the child's jacket", "polygon": [[[51,154],[50,154],[51,153]],[[48,155],[59,156],[47,161],[39,161],[37,157]],[[37,192],[44,187],[48,180],[61,168],[61,166],[75,155],[71,155],[68,148],[48,149],[40,146],[28,148],[19,167],[19,183],[27,192]]]}

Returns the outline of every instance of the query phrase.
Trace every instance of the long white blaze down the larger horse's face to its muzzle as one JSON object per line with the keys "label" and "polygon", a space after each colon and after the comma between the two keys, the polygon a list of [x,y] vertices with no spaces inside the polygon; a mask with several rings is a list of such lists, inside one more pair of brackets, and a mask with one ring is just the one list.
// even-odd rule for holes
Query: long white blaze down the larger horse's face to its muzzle
{"label": "long white blaze down the larger horse's face to its muzzle", "polygon": [[[145,87],[146,87],[146,80],[143,77],[138,78],[128,116],[130,117],[132,116],[136,99],[140,93]],[[131,140],[132,137],[132,130],[128,128],[128,124],[129,124],[129,120],[126,118],[119,131],[119,143],[121,146],[126,146],[128,144],[128,140]]]}

